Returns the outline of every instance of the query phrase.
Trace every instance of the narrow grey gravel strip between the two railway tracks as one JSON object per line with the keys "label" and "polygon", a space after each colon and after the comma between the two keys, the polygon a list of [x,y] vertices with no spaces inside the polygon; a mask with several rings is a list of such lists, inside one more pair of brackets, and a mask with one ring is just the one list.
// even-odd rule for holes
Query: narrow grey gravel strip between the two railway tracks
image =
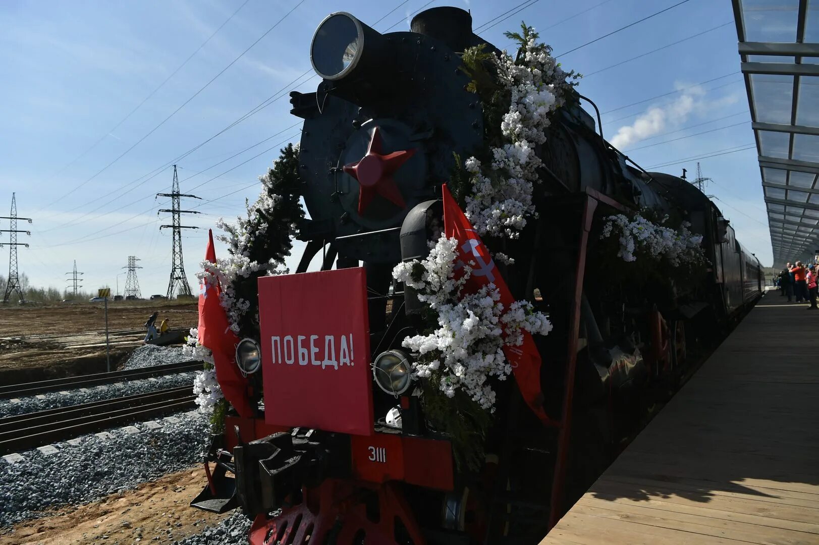
{"label": "narrow grey gravel strip between the two railway tracks", "polygon": [[8,399],[0,399],[0,418],[7,416],[26,415],[29,412],[46,411],[62,406],[79,405],[113,399],[114,397],[132,396],[137,393],[155,392],[165,388],[177,388],[190,384],[196,377],[195,371],[176,373],[174,375],[163,375],[152,377],[152,379],[124,380],[120,384],[107,384],[104,388],[97,386],[92,388],[79,388],[75,390],[64,390],[67,393],[48,392],[40,394],[40,397],[29,396],[20,397],[19,402],[11,402]]}

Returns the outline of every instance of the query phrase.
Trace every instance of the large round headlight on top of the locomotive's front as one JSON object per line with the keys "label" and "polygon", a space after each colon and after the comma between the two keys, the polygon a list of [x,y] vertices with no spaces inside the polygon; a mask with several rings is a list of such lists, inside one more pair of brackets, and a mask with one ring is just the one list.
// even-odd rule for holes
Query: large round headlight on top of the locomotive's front
{"label": "large round headlight on top of the locomotive's front", "polygon": [[364,75],[382,64],[385,46],[386,39],[376,30],[345,11],[337,11],[316,29],[310,62],[323,79],[335,81],[356,71]]}

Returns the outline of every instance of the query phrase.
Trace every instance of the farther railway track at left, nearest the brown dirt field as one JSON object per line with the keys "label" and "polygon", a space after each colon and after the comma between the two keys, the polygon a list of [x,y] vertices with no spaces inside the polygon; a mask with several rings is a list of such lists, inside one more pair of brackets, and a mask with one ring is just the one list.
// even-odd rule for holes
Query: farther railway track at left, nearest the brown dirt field
{"label": "farther railway track at left, nearest the brown dirt field", "polygon": [[87,388],[101,384],[112,384],[122,379],[148,379],[159,375],[183,373],[185,371],[201,369],[201,361],[181,361],[163,366],[141,367],[139,369],[118,370],[93,375],[77,375],[62,379],[40,380],[22,384],[7,384],[0,386],[0,399],[33,396],[38,393],[57,392],[71,388]]}

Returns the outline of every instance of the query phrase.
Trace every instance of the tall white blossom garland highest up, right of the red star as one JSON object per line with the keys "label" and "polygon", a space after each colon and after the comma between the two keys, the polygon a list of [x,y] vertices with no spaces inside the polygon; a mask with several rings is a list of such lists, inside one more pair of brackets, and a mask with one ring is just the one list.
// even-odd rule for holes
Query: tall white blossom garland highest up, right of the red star
{"label": "tall white blossom garland highest up, right of the red star", "polygon": [[476,157],[464,161],[473,186],[464,213],[479,234],[518,238],[527,216],[536,216],[532,188],[541,181],[537,170],[542,166],[536,146],[545,143],[550,115],[563,105],[563,94],[571,85],[535,39],[523,47],[523,66],[507,52],[494,60],[500,83],[511,94],[509,112],[500,125],[506,143],[492,148],[488,168]]}

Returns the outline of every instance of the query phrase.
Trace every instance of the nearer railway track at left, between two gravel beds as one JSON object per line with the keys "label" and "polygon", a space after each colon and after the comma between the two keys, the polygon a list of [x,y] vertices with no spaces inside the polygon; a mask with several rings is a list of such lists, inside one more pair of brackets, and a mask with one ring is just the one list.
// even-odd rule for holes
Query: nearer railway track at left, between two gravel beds
{"label": "nearer railway track at left, between two gravel beds", "polygon": [[194,398],[188,385],[2,418],[0,455],[189,410]]}

